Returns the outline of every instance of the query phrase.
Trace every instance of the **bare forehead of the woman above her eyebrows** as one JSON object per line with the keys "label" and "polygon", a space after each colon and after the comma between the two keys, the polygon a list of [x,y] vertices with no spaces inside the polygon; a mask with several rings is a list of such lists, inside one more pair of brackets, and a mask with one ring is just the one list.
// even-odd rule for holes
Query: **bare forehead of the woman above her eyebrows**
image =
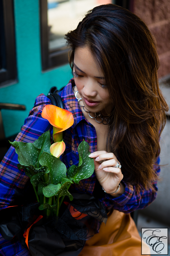
{"label": "bare forehead of the woman above her eyebrows", "polygon": [[103,72],[88,47],[77,47],[75,49],[74,63],[86,74],[91,76],[103,76]]}

